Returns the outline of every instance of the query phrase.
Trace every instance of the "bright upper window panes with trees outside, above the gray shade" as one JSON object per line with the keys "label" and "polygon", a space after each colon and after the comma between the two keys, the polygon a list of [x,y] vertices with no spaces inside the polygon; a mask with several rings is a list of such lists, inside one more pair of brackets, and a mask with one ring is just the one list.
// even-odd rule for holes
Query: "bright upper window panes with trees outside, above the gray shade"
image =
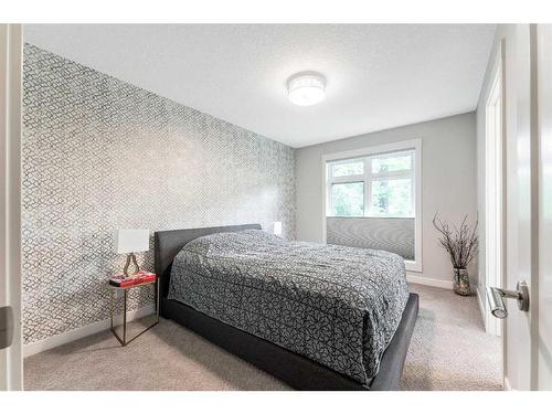
{"label": "bright upper window panes with trees outside, above the gray shade", "polygon": [[414,150],[327,163],[330,216],[413,217]]}

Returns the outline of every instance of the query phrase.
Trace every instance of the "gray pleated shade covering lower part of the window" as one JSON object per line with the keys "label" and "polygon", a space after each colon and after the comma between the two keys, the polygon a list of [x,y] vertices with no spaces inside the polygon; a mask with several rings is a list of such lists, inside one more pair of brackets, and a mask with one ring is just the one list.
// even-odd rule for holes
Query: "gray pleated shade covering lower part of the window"
{"label": "gray pleated shade covering lower part of the window", "polygon": [[326,241],[341,246],[383,250],[414,259],[414,219],[328,217]]}

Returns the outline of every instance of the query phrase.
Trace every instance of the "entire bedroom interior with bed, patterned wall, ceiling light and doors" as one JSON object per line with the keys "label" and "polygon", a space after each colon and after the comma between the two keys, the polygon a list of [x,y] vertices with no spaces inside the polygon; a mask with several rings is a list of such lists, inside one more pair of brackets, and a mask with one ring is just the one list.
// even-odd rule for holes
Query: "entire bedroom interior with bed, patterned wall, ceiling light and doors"
{"label": "entire bedroom interior with bed, patterned wall, ceiling light and doors", "polygon": [[551,33],[3,24],[2,388],[550,390]]}

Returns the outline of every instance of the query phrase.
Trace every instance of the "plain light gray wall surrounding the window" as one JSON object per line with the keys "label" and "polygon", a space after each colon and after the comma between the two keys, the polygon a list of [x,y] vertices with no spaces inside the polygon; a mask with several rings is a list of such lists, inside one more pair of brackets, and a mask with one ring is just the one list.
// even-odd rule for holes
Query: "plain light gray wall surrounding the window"
{"label": "plain light gray wall surrounding the window", "polygon": [[[300,148],[296,151],[297,237],[322,242],[322,156],[421,138],[423,142],[423,273],[422,277],[450,280],[452,268],[437,242],[432,220],[439,212],[458,222],[476,215],[475,113]],[[474,280],[476,268],[471,269]]]}

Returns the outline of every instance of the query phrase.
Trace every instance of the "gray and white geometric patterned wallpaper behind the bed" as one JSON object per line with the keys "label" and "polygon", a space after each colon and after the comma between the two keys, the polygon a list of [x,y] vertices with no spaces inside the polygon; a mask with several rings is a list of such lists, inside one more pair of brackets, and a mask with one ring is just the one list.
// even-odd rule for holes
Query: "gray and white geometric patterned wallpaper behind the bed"
{"label": "gray and white geometric patterned wallpaper behind the bed", "polygon": [[108,318],[116,229],[282,221],[295,236],[293,148],[31,44],[23,70],[25,343]]}

